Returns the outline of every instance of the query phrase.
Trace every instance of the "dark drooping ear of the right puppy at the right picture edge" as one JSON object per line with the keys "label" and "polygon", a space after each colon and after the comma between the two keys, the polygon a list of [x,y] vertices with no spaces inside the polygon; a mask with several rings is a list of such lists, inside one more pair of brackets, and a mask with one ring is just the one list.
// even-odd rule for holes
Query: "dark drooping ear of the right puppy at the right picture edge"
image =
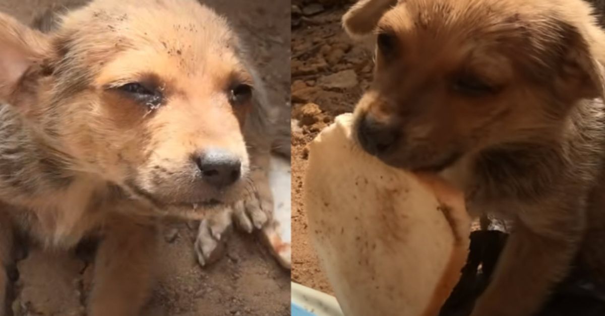
{"label": "dark drooping ear of the right puppy at the right picture edge", "polygon": [[[585,28],[580,32],[569,24],[560,24],[561,52],[557,90],[563,95],[580,99],[601,98],[605,100],[605,77],[598,56],[605,53],[605,36],[601,30]],[[591,32],[594,31],[594,32]],[[597,38],[594,38],[597,36]]]}

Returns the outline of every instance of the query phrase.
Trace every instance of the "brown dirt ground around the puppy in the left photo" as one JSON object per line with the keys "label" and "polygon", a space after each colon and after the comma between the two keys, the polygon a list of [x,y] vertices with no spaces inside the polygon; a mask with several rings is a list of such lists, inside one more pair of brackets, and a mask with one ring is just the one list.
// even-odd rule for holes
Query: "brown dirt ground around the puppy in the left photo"
{"label": "brown dirt ground around the puppy in the left photo", "polygon": [[[28,22],[34,10],[62,1],[0,0],[0,11]],[[241,31],[252,48],[252,60],[268,83],[271,102],[289,112],[290,69],[284,65],[290,56],[290,2],[202,2],[228,16]],[[143,315],[290,314],[290,274],[273,260],[260,238],[235,234],[227,244],[226,256],[202,269],[193,252],[196,232],[197,225],[191,223],[166,226],[163,255],[157,258],[161,277]],[[88,262],[82,256],[30,249],[16,267],[16,315],[82,315],[90,288]]]}

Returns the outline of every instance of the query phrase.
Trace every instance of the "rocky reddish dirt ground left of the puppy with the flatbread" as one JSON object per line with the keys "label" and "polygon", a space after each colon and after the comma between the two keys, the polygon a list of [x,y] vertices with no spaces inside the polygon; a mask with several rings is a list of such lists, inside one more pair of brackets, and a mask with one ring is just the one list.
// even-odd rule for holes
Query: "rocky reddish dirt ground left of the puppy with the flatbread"
{"label": "rocky reddish dirt ground left of the puppy with the flatbread", "polygon": [[[306,149],[338,114],[353,110],[371,78],[371,52],[344,33],[348,1],[294,1],[292,13],[292,280],[333,294],[313,251],[302,203]],[[355,45],[354,45],[355,44]]]}

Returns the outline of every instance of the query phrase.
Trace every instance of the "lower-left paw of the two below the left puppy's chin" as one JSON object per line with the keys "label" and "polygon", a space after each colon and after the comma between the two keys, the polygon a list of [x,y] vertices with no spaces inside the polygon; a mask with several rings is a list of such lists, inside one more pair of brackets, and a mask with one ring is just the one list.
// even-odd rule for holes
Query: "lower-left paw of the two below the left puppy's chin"
{"label": "lower-left paw of the two below the left puppy's chin", "polygon": [[231,206],[212,214],[200,222],[195,253],[201,266],[216,262],[224,253],[225,242],[232,226],[233,209]]}

